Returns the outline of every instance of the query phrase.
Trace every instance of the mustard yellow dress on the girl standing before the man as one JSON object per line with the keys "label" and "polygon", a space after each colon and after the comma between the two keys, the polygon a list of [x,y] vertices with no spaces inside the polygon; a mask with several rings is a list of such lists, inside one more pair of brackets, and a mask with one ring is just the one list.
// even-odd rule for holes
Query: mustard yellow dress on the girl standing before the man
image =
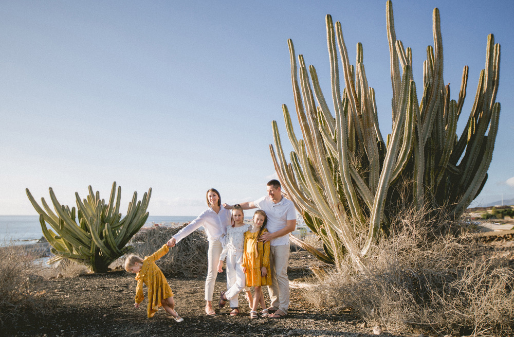
{"label": "mustard yellow dress on the girl standing before the man", "polygon": [[[263,233],[267,232],[264,229]],[[246,286],[271,286],[271,271],[269,270],[269,241],[257,241],[259,232],[245,232],[243,248],[243,268],[246,268]],[[261,276],[261,268],[266,267],[266,276]]]}

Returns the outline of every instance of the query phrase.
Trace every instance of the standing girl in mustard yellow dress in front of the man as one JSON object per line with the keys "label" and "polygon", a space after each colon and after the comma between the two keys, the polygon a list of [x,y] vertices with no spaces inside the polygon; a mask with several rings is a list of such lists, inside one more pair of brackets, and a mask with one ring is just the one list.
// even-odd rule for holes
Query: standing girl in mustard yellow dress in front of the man
{"label": "standing girl in mustard yellow dress in front of the man", "polygon": [[246,286],[254,287],[252,310],[250,318],[257,318],[257,307],[263,308],[262,317],[268,316],[268,309],[262,293],[262,286],[271,286],[271,273],[269,271],[269,241],[259,242],[258,239],[266,230],[268,218],[262,209],[255,211],[253,225],[245,233],[243,250],[243,272],[246,275]]}

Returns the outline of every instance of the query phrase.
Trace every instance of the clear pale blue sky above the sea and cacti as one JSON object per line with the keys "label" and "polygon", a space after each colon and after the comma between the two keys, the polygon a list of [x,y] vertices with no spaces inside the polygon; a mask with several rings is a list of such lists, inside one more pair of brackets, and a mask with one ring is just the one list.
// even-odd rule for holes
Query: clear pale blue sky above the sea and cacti
{"label": "clear pale blue sky above the sea and cacti", "polygon": [[[500,128],[473,205],[514,198],[513,5],[393,1],[418,88],[434,7],[452,99],[469,65],[458,134],[484,68],[487,34],[502,46]],[[341,22],[351,60],[363,44],[380,127],[390,132],[385,1],[2,1],[0,215],[36,214],[25,188],[49,201],[52,187],[71,206],[89,185],[107,199],[113,181],[122,187],[123,210],[134,191],[140,199],[151,187],[151,215],[197,215],[211,187],[228,203],[264,196],[275,176],[271,121],[286,143],[281,104],[294,111],[287,39],[316,67],[327,96],[326,14]]]}

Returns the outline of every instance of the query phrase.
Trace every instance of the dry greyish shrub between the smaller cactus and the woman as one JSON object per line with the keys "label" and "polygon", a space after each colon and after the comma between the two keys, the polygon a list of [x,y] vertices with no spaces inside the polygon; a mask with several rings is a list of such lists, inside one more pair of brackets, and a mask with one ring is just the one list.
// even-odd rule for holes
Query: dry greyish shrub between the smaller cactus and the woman
{"label": "dry greyish shrub between the smaller cactus and the woman", "polygon": [[[134,248],[131,253],[143,258],[152,255],[184,226],[186,224],[179,227],[142,228],[129,242]],[[168,254],[161,257],[156,263],[166,275],[183,275],[185,277],[204,275],[207,273],[208,248],[205,233],[195,230],[175,247],[170,248]]]}

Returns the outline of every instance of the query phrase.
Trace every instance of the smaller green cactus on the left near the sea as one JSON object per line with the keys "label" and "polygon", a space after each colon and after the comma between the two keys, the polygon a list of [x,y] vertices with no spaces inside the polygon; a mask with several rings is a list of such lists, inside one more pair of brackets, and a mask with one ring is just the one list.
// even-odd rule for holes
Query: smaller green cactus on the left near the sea
{"label": "smaller green cactus on the left near the sea", "polygon": [[[43,210],[26,189],[27,196],[39,213],[39,221],[43,235],[52,246],[56,255],[54,261],[61,258],[76,260],[87,265],[91,271],[103,273],[111,262],[126,253],[128,240],[144,225],[148,218],[148,203],[152,189],[144,193],[143,199],[137,201],[134,192],[132,201],[128,204],[126,216],[122,219],[120,209],[121,187],[116,196],[116,182],[113,183],[111,198],[108,204],[100,199],[100,192],[93,192],[89,186],[89,196],[81,201],[79,193],[77,212],[75,207],[61,205],[50,187],[50,199],[56,211],[54,213],[44,198],[41,198]],[[76,215],[78,223],[76,222]],[[48,223],[51,228],[46,225]]]}

